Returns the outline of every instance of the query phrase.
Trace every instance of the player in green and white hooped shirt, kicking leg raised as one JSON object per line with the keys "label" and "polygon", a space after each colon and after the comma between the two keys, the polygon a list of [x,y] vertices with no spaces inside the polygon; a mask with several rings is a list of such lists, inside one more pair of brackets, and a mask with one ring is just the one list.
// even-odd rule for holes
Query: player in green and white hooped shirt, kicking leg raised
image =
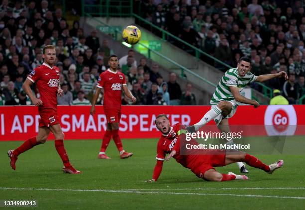
{"label": "player in green and white hooped shirt, kicking leg raised", "polygon": [[[210,104],[211,110],[208,111],[202,119],[188,127],[189,132],[197,132],[201,127],[214,119],[217,127],[221,132],[230,132],[228,119],[233,117],[239,103],[253,105],[254,108],[260,104],[240,94],[240,91],[252,82],[264,82],[276,77],[284,77],[288,79],[286,72],[282,71],[276,74],[267,74],[256,76],[251,72],[251,60],[248,57],[241,57],[237,64],[237,68],[229,69],[220,79],[216,90],[212,96]],[[233,141],[227,142],[234,144]],[[242,173],[248,173],[245,165],[238,162],[237,165]]]}

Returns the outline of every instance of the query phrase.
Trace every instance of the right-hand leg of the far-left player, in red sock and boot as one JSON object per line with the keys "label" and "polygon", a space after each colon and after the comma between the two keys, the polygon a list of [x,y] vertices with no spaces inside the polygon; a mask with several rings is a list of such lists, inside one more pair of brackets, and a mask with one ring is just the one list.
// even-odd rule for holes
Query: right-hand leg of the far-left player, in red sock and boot
{"label": "right-hand leg of the far-left player, in red sock and boot", "polygon": [[64,173],[68,173],[68,174],[80,174],[82,172],[76,170],[69,161],[66,149],[64,147],[64,143],[63,143],[63,138],[64,138],[64,134],[61,130],[61,127],[59,124],[55,124],[53,126],[50,127],[52,133],[55,136],[55,148],[57,153],[59,154],[63,164],[64,164],[64,168],[63,168],[63,172]]}

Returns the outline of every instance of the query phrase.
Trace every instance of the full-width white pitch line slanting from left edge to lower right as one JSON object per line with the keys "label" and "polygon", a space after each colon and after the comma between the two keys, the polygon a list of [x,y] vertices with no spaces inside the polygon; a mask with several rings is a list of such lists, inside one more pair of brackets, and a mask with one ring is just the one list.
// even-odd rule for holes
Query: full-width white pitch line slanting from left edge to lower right
{"label": "full-width white pitch line slanting from left edge to lower right", "polygon": [[199,195],[199,196],[236,196],[236,197],[256,197],[256,198],[281,198],[281,199],[305,199],[298,196],[269,196],[269,195],[244,195],[244,194],[226,194],[226,193],[178,193],[178,192],[145,192],[130,190],[103,190],[103,189],[49,189],[49,188],[5,188],[2,190],[38,190],[38,191],[78,191],[78,192],[107,192],[107,193],[134,193],[134,194],[168,194],[168,195]]}

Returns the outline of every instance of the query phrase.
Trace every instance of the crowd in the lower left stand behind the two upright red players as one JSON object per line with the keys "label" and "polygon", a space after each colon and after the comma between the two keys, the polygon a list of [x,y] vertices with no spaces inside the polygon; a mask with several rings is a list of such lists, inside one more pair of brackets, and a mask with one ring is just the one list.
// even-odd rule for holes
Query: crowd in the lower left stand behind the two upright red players
{"label": "crowd in the lower left stand behind the two upright red players", "polygon": [[[28,74],[43,63],[42,49],[56,46],[56,65],[61,70],[60,85],[64,96],[60,105],[89,105],[97,79],[108,68],[108,57],[115,53],[107,40],[100,43],[97,31],[85,37],[78,21],[69,26],[60,8],[49,1],[9,1],[0,4],[0,105],[30,105],[22,89]],[[126,75],[128,88],[138,105],[194,105],[192,84],[181,91],[177,75],[163,81],[159,66],[146,64],[146,58],[135,60],[134,51],[120,58],[120,71]],[[33,92],[39,92],[33,86]],[[103,104],[103,92],[98,103]],[[122,96],[122,104],[131,101]]]}

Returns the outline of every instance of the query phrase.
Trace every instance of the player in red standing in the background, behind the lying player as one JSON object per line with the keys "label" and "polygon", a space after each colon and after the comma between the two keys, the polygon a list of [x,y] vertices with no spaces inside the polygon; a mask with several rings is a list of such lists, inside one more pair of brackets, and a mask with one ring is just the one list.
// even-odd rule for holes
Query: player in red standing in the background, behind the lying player
{"label": "player in red standing in the background, behind the lying player", "polygon": [[106,148],[110,142],[111,136],[120,152],[120,158],[129,158],[133,155],[131,152],[126,152],[123,149],[122,142],[119,136],[119,122],[121,119],[121,97],[122,89],[126,96],[128,96],[133,103],[136,102],[136,98],[132,95],[130,90],[128,90],[126,85],[125,76],[123,73],[117,70],[119,65],[118,56],[111,55],[109,57],[109,69],[100,74],[98,84],[96,86],[95,94],[92,99],[92,106],[90,114],[95,114],[95,104],[99,97],[100,91],[104,89],[104,112],[107,118],[107,129],[103,137],[103,142],[101,146],[100,153],[98,155],[99,159],[110,159],[105,154]]}

